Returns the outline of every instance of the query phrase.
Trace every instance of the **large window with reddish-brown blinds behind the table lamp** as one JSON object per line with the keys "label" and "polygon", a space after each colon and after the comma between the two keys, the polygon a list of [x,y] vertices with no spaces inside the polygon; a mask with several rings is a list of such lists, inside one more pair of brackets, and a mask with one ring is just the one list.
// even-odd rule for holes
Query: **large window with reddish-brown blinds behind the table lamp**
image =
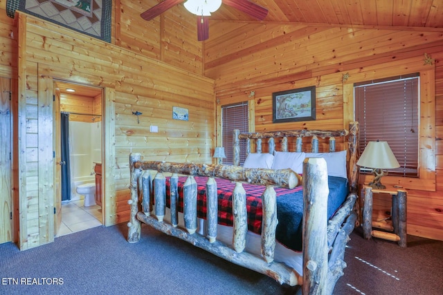
{"label": "large window with reddish-brown blinds behind the table lamp", "polygon": [[360,154],[368,142],[385,140],[400,164],[390,175],[418,176],[418,74],[354,84],[354,99]]}

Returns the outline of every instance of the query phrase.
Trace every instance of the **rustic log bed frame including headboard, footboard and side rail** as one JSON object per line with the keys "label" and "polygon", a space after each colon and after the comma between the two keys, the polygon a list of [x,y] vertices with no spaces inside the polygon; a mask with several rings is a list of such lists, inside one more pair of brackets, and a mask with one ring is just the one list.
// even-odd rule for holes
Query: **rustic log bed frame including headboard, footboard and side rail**
{"label": "rustic log bed frame including headboard, footboard and side rail", "polygon": [[[140,153],[129,156],[131,183],[131,216],[128,226],[128,242],[138,242],[141,236],[141,222],[154,227],[170,236],[186,240],[190,244],[205,249],[225,260],[237,265],[260,272],[277,280],[280,284],[302,285],[302,294],[332,294],[336,281],[343,276],[345,246],[349,234],[356,225],[358,202],[357,180],[359,169],[356,167],[358,158],[357,122],[351,122],[349,131],[279,131],[266,133],[242,133],[234,131],[234,165],[224,164],[191,164],[141,161]],[[348,136],[347,149],[349,155],[348,180],[350,193],[340,209],[327,220],[327,167],[323,158],[309,158],[303,163],[303,177],[291,169],[245,169],[238,166],[239,140],[246,139],[247,153],[251,152],[251,141],[255,141],[255,152],[261,153],[262,139],[269,138],[269,153],[275,150],[275,138],[281,138],[282,151],[288,151],[288,137],[296,137],[296,151],[302,151],[302,137],[311,137],[312,152],[318,152],[318,137],[329,138],[329,151],[335,151],[335,137]],[[345,144],[346,145],[346,144]],[[152,177],[150,171],[157,171]],[[147,172],[147,173],[145,173]],[[170,222],[163,220],[165,216],[165,176],[170,178]],[[177,211],[178,175],[188,175],[183,187],[183,219],[186,229],[179,226]],[[206,176],[207,191],[207,222],[208,235],[201,236],[197,229],[197,183],[194,176]],[[153,178],[153,179],[152,179]],[[233,242],[226,245],[217,240],[217,184],[215,178],[224,178],[235,182],[233,190]],[[262,194],[262,256],[244,251],[246,244],[246,193],[242,183],[263,185]],[[276,217],[275,191],[273,187],[295,187],[303,185],[303,271],[302,275],[284,263],[273,261],[275,247]],[[154,187],[154,201],[143,198],[150,196]],[[329,245],[329,246],[328,246]]]}

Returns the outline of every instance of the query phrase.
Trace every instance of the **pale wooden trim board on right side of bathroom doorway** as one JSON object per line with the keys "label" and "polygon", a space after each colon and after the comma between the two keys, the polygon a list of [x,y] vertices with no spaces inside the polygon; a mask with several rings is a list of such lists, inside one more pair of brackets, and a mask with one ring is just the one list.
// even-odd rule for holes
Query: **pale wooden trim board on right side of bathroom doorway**
{"label": "pale wooden trim board on right side of bathroom doorway", "polygon": [[[115,225],[116,218],[116,91],[105,88],[104,91],[104,113],[103,113],[103,141],[102,141],[102,208],[103,225]],[[128,154],[129,157],[129,154]],[[128,160],[129,162],[129,160]]]}

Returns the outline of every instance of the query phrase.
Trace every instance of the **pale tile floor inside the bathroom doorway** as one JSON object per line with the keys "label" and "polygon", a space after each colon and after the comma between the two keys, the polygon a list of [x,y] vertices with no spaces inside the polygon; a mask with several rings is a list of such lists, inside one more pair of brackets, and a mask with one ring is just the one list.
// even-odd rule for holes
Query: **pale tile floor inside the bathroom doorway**
{"label": "pale tile floor inside the bathroom doorway", "polygon": [[62,203],[62,224],[57,237],[102,225],[102,208],[98,205],[83,206],[83,200]]}

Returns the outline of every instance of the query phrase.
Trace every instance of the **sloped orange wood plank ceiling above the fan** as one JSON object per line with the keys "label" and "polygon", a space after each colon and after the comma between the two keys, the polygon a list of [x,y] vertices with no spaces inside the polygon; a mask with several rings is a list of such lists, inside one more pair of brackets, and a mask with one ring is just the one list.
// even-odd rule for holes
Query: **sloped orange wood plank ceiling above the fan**
{"label": "sloped orange wood plank ceiling above the fan", "polygon": [[[251,0],[269,10],[264,21],[376,27],[443,28],[442,0]],[[255,21],[221,5],[210,21]]]}

